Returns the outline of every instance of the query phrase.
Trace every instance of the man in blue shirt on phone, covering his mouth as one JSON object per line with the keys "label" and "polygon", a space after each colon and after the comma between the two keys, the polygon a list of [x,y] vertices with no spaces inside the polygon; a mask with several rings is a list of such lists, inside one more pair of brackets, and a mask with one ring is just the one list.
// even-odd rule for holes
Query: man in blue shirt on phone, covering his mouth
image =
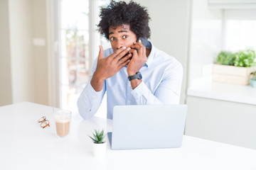
{"label": "man in blue shirt on phone, covering his mouth", "polygon": [[[149,38],[146,8],[130,1],[112,1],[101,8],[100,33],[112,48],[103,51],[92,66],[92,75],[78,98],[82,118],[91,118],[107,91],[107,118],[117,105],[178,104],[183,69],[181,64],[138,38]],[[163,27],[168,34],[168,29]]]}

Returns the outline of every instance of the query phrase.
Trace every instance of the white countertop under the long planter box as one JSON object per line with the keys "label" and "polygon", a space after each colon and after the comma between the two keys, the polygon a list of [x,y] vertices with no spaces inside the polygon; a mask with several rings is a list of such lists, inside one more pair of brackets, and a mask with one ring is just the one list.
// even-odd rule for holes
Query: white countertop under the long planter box
{"label": "white countertop under the long planter box", "polygon": [[256,89],[251,86],[213,82],[188,88],[188,96],[212,98],[256,105]]}

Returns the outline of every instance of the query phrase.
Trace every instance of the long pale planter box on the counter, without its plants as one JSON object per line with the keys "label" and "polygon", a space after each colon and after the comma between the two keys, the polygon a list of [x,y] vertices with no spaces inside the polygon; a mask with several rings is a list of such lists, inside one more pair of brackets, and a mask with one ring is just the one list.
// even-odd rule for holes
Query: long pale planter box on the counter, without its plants
{"label": "long pale planter box on the counter, without its plants", "polygon": [[213,64],[213,81],[248,85],[250,73],[254,72],[256,67],[235,67],[220,64]]}

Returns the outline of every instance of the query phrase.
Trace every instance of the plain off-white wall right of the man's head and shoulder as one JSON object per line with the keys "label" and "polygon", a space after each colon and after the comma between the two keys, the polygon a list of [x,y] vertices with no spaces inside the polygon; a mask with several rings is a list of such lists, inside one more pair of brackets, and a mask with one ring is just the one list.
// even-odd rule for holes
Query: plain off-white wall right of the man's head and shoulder
{"label": "plain off-white wall right of the man's head and shoulder", "polygon": [[151,21],[149,21],[151,41],[154,46],[176,57],[183,65],[181,103],[185,103],[191,3],[189,0],[134,1],[148,8],[151,17]]}

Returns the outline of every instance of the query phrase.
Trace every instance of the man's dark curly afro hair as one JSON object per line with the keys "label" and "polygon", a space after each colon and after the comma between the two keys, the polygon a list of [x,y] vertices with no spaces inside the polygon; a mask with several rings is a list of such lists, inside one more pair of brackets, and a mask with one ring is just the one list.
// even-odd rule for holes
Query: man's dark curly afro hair
{"label": "man's dark curly afro hair", "polygon": [[129,24],[130,30],[137,38],[150,38],[149,13],[144,6],[140,6],[134,1],[127,4],[124,1],[111,1],[106,7],[100,8],[101,21],[97,25],[101,35],[109,40],[110,26],[122,26]]}

